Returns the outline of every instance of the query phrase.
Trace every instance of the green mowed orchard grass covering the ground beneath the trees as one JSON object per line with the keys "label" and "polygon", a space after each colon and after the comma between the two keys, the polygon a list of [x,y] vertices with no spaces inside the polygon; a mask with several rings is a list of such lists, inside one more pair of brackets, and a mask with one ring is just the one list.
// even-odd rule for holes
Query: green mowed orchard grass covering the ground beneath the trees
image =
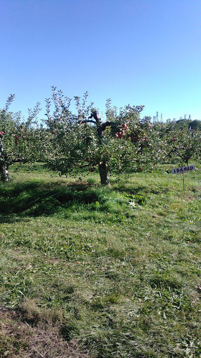
{"label": "green mowed orchard grass covering the ground beneath the trees", "polygon": [[167,166],[110,188],[14,169],[0,184],[0,357],[201,357],[200,168],[185,196]]}

